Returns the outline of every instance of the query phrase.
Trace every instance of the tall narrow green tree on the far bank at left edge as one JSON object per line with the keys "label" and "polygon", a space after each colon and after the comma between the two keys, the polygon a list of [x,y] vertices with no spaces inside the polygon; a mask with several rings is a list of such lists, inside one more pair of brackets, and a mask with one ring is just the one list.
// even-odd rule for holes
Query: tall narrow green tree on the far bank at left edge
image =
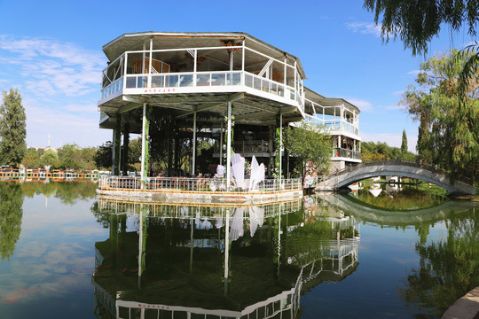
{"label": "tall narrow green tree on the far bank at left edge", "polygon": [[0,105],[0,162],[19,167],[27,152],[27,116],[17,89],[10,89],[8,93],[4,91],[3,96]]}

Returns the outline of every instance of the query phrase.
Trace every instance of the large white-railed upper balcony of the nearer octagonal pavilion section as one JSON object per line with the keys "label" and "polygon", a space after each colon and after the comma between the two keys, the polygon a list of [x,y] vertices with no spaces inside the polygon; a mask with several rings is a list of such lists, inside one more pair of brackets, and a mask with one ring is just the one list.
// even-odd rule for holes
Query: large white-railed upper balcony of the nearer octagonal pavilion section
{"label": "large white-railed upper balcony of the nearer octagonal pavilion section", "polygon": [[[151,61],[151,63],[150,63]],[[125,51],[103,71],[98,105],[122,95],[245,92],[304,110],[302,76],[244,43],[223,47]]]}

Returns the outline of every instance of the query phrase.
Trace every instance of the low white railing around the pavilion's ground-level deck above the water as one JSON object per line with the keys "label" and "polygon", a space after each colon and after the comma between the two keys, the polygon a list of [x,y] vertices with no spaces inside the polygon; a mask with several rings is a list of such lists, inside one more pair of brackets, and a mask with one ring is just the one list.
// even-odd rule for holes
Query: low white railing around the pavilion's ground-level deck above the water
{"label": "low white railing around the pavilion's ground-level deck above the water", "polygon": [[98,189],[108,191],[156,191],[156,192],[235,192],[235,193],[271,193],[278,191],[302,191],[301,178],[268,179],[255,185],[249,191],[249,180],[244,180],[243,187],[231,182],[226,187],[224,178],[188,178],[188,177],[148,177],[142,180],[133,176],[106,176],[98,180]]}

